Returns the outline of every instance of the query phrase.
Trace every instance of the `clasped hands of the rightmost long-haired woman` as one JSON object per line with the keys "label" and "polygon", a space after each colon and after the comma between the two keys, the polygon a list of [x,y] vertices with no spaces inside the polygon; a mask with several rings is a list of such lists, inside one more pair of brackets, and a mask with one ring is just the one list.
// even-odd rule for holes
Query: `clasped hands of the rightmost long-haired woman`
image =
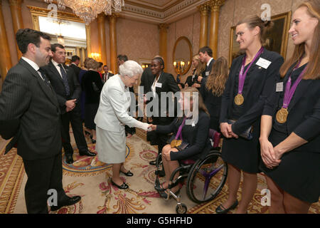
{"label": "clasped hands of the rightmost long-haired woman", "polygon": [[282,157],[282,152],[279,150],[279,147],[273,147],[272,143],[267,138],[260,138],[259,140],[261,157],[265,166],[269,169],[277,167],[281,162],[280,158]]}

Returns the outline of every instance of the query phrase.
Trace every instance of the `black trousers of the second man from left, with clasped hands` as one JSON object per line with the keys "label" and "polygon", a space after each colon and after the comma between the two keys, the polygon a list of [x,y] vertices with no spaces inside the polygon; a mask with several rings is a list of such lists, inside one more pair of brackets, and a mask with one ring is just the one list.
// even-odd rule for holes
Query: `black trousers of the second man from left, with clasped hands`
{"label": "black trousers of the second man from left, with clasped hands", "polygon": [[80,108],[78,105],[70,112],[61,115],[61,136],[63,138],[63,149],[65,155],[73,155],[73,147],[70,143],[70,123],[73,128],[73,135],[75,136],[75,143],[79,149],[79,152],[87,151],[87,142],[85,141],[85,135],[83,135],[82,119]]}

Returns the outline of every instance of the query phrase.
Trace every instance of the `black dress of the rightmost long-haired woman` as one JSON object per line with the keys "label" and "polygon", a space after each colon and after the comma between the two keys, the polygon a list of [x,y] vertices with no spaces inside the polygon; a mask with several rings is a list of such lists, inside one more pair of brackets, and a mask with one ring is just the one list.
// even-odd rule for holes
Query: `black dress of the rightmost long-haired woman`
{"label": "black dress of the rightmost long-haired woman", "polygon": [[[284,77],[283,88],[292,72],[292,66]],[[292,73],[292,85],[306,65]],[[267,100],[264,115],[272,115],[282,107],[284,91],[274,93]],[[270,170],[260,162],[265,174],[285,192],[305,202],[318,202],[320,197],[320,80],[302,80],[288,107],[286,123],[273,118],[269,140],[273,146],[286,139],[292,132],[308,142],[284,153],[279,166]]]}

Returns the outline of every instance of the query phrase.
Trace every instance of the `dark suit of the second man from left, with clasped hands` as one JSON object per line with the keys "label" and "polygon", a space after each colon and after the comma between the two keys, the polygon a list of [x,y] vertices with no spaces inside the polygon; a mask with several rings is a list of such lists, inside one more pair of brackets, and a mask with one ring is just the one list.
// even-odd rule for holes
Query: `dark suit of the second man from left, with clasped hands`
{"label": "dark suit of the second man from left, with clasped hands", "polygon": [[[68,96],[66,95],[65,86],[63,85],[63,79],[61,78],[57,68],[55,68],[55,66],[53,65],[52,61],[50,61],[48,66],[43,67],[43,70],[46,71],[48,78],[50,78],[51,85],[53,86],[55,93],[57,93],[58,103],[60,105],[60,110],[62,113],[62,137],[65,155],[73,155],[73,147],[70,144],[69,134],[70,123],[73,128],[73,134],[75,136],[75,142],[77,143],[79,152],[87,151],[87,142],[85,141],[85,135],[83,135],[82,120],[80,113],[80,83],[78,81],[77,76],[75,76],[75,73],[72,68],[69,68],[68,66],[64,66],[64,68],[68,76],[68,85],[70,88],[70,95]],[[65,102],[67,100],[73,99],[77,99],[75,108],[67,113],[65,110]]]}

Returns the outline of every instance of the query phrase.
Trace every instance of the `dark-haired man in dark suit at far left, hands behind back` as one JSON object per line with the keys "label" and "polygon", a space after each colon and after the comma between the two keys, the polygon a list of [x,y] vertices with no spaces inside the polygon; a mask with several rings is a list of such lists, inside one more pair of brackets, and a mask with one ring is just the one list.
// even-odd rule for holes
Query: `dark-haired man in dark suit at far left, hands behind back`
{"label": "dark-haired man in dark suit at far left, hands behind back", "polygon": [[63,190],[60,109],[50,81],[39,69],[52,56],[50,36],[25,28],[17,31],[16,41],[23,55],[9,70],[0,93],[0,135],[13,137],[6,152],[16,145],[23,159],[27,212],[48,213],[48,190],[58,197],[51,211],[81,197],[68,197]]}

